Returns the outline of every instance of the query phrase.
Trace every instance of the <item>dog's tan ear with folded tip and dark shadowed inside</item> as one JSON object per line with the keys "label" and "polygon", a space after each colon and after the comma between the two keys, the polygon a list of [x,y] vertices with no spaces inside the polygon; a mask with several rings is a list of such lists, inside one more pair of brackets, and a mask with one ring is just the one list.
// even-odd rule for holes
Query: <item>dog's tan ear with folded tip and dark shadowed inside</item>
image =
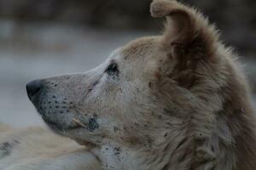
{"label": "dog's tan ear with folded tip and dark shadowed inside", "polygon": [[172,0],[154,0],[150,11],[153,17],[166,17],[164,45],[174,57],[210,58],[216,51],[218,32],[195,8]]}

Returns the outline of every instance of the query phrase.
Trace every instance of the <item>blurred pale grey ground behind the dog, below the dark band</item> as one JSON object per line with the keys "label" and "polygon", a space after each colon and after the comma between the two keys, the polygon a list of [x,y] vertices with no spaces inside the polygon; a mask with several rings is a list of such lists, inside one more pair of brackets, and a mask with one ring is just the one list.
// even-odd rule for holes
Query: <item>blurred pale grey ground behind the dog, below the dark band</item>
{"label": "blurred pale grey ground behind the dog, below the dark band", "polygon": [[[26,82],[100,64],[114,48],[143,31],[108,31],[67,25],[17,26],[0,21],[0,122],[15,127],[43,124],[26,96]],[[247,62],[254,76],[254,62]]]}

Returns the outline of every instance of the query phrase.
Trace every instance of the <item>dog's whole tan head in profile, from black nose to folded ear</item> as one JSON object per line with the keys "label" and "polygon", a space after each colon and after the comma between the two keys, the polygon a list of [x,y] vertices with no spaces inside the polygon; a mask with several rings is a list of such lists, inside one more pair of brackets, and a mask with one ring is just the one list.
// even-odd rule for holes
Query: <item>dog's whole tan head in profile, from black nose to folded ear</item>
{"label": "dog's whole tan head in profile, from black nose to folded ear", "polygon": [[[155,0],[151,14],[166,17],[163,35],[130,42],[91,71],[27,84],[56,133],[84,144],[148,148],[182,140],[195,112],[219,109],[221,99],[213,105],[209,97],[226,86],[229,73],[214,26],[176,1]],[[207,116],[200,118],[214,119]]]}

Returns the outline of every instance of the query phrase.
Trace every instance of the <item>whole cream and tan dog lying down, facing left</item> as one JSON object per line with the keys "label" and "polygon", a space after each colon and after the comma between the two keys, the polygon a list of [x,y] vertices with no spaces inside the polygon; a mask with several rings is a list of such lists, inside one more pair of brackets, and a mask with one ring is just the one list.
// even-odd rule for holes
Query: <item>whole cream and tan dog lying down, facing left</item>
{"label": "whole cream and tan dog lying down, facing left", "polygon": [[[9,151],[10,157],[22,159],[26,149],[36,159],[51,144],[56,154],[48,150],[43,161],[21,161],[25,167],[12,170],[63,164],[73,170],[256,169],[255,115],[237,55],[195,8],[154,0],[150,11],[166,18],[160,36],[129,42],[85,73],[26,85],[44,122],[68,139],[47,130],[26,130],[26,146]],[[40,142],[44,135],[51,137]],[[60,151],[66,146],[68,159]],[[0,163],[9,161],[6,157]],[[76,166],[81,159],[83,168]]]}

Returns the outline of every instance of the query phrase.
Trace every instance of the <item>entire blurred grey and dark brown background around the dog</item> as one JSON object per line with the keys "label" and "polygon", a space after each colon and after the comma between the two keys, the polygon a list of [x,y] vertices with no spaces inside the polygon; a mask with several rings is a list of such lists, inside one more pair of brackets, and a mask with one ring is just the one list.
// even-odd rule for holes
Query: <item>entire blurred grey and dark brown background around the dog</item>
{"label": "entire blurred grey and dark brown background around the dog", "polygon": [[[159,34],[151,0],[0,0],[0,122],[41,125],[26,82],[89,70],[114,48]],[[256,1],[183,0],[216,23],[236,48],[256,92]]]}

